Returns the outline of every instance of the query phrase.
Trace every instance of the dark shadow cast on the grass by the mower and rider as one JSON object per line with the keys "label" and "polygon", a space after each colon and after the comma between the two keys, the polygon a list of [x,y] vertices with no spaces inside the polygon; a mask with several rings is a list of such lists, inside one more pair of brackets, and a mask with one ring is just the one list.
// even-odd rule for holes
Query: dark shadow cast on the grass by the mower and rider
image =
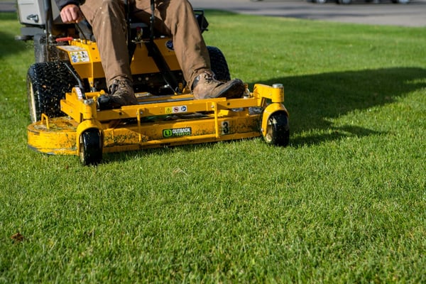
{"label": "dark shadow cast on the grass by the mower and rider", "polygon": [[[330,119],[380,107],[398,97],[426,87],[426,70],[415,67],[383,68],[330,72],[317,75],[280,77],[256,82],[262,84],[283,83],[285,106],[290,112],[290,145],[301,147],[326,141],[336,141],[347,136],[371,136],[381,132],[361,126],[333,126]],[[253,86],[253,83],[250,84]],[[302,133],[307,133],[301,135]],[[312,134],[310,134],[312,133]],[[211,144],[206,144],[210,147]],[[192,151],[195,146],[179,146]],[[164,153],[165,149],[150,149],[146,153]],[[144,155],[109,154],[107,161],[126,160]]]}

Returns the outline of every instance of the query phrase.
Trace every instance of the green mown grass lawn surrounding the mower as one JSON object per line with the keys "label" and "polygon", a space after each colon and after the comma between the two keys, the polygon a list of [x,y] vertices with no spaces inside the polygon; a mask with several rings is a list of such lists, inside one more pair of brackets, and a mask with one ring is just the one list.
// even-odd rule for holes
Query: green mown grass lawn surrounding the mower
{"label": "green mown grass lawn surrounding the mower", "polygon": [[30,151],[33,50],[0,13],[0,283],[424,283],[425,28],[207,18],[233,77],[284,84],[288,148],[255,138],[97,167]]}

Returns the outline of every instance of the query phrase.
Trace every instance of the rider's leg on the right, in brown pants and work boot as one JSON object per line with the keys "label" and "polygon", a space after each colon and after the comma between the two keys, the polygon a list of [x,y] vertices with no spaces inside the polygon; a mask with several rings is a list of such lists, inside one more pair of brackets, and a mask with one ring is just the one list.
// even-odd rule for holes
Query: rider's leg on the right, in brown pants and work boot
{"label": "rider's leg on the right, in brown pants and work boot", "polygon": [[[149,23],[151,0],[132,1],[132,17]],[[241,80],[219,82],[210,70],[210,58],[191,4],[187,0],[156,0],[155,28],[173,38],[176,58],[196,99],[207,97],[241,97],[245,90]]]}

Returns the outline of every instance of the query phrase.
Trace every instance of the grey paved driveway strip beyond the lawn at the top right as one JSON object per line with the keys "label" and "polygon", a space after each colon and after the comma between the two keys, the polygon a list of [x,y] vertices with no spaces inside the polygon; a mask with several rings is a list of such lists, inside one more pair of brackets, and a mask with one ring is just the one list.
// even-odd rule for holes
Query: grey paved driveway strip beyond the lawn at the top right
{"label": "grey paved driveway strip beyond the lawn at the top right", "polygon": [[315,4],[305,0],[190,0],[192,6],[203,9],[223,9],[236,13],[305,18],[312,20],[373,25],[426,26],[426,0],[412,0],[410,4],[366,3]]}

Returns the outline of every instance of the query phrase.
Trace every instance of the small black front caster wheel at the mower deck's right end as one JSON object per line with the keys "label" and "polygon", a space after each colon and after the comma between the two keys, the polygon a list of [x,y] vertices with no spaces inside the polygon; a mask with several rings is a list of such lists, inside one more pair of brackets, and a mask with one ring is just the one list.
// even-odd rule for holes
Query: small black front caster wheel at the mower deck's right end
{"label": "small black front caster wheel at the mower deck's right end", "polygon": [[263,136],[263,139],[271,145],[288,146],[290,143],[290,127],[285,111],[277,111],[269,116],[266,136]]}

